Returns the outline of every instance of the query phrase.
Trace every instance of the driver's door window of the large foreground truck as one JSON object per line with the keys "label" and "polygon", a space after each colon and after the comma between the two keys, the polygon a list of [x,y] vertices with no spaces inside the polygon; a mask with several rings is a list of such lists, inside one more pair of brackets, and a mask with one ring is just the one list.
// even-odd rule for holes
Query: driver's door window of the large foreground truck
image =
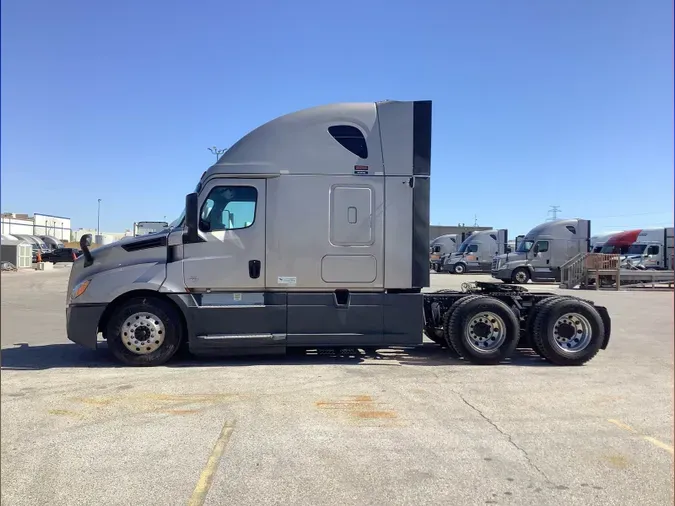
{"label": "driver's door window of the large foreground truck", "polygon": [[206,197],[199,214],[203,232],[241,230],[253,225],[258,190],[253,186],[216,186]]}

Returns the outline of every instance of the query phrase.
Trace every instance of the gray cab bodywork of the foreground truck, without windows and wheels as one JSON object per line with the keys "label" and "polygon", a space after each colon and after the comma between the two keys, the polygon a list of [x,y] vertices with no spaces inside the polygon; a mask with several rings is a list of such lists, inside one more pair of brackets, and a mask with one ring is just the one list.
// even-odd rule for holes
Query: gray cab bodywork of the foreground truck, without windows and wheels
{"label": "gray cab bodywork of the foreground truck, without windows and wheels", "polygon": [[[331,126],[362,132],[367,158]],[[94,250],[93,265],[73,266],[69,291],[91,283],[72,307],[160,292],[181,308],[195,350],[419,344],[422,296],[386,290],[429,285],[430,135],[430,102],[333,104],[272,120],[197,187],[200,211],[214,189],[254,187],[252,223],[202,227],[199,242],[174,230]],[[343,289],[348,305],[334,293]]]}

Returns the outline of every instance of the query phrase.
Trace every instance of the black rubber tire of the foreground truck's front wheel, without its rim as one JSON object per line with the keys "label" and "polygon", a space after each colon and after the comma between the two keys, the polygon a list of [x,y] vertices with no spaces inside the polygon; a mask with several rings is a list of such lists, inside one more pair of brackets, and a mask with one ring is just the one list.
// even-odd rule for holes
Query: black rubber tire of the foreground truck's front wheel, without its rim
{"label": "black rubber tire of the foreground truck's front wheel, without its rim", "polygon": [[[148,343],[156,349],[149,353],[137,354],[130,351],[122,339],[126,336],[129,345],[134,342],[133,334],[127,335],[123,330],[123,325],[127,319],[135,314],[148,313],[157,317],[155,324],[161,324],[163,330],[157,330],[157,334],[163,335],[163,340],[159,335],[152,334],[158,340],[153,344]],[[135,318],[139,319],[139,318]],[[151,318],[147,318],[152,320]],[[141,325],[143,326],[143,325]],[[153,326],[154,327],[154,326]],[[108,320],[106,327],[106,340],[108,349],[120,362],[132,366],[156,366],[166,363],[178,351],[183,334],[180,316],[176,309],[168,302],[154,297],[136,297],[123,303],[115,309]],[[140,352],[141,346],[134,346]],[[147,348],[146,348],[147,349]]]}

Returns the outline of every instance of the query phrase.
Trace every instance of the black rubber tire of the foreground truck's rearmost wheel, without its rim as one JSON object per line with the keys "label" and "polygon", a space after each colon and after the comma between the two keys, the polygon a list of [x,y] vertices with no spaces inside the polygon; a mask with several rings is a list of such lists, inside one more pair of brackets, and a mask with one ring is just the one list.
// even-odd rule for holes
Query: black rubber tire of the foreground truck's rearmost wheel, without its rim
{"label": "black rubber tire of the foreground truck's rearmost wheel, without its rim", "polygon": [[[583,316],[590,326],[589,342],[579,351],[565,351],[556,343],[554,325],[565,313]],[[588,302],[571,297],[558,298],[543,306],[535,316],[532,331],[537,353],[552,364],[565,366],[583,365],[591,360],[600,350],[604,337],[605,326],[598,311]]]}

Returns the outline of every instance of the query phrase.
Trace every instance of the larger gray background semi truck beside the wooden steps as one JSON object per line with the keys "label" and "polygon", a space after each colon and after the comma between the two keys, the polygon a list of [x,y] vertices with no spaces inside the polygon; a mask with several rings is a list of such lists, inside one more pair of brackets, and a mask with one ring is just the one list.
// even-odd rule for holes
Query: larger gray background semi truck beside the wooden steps
{"label": "larger gray background semi truck beside the wooden steps", "polygon": [[513,253],[496,256],[492,277],[504,283],[560,281],[561,266],[591,248],[591,222],[554,220],[530,230]]}

